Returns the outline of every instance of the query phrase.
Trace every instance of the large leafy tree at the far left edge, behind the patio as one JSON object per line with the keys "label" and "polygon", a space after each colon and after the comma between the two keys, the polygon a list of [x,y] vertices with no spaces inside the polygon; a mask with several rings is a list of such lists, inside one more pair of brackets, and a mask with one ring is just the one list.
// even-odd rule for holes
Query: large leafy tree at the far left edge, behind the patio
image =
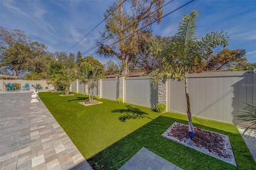
{"label": "large leafy tree at the far left edge, behind the patio", "polygon": [[43,60],[46,48],[21,30],[0,27],[0,67],[6,67],[14,76],[22,71],[42,72],[46,66]]}

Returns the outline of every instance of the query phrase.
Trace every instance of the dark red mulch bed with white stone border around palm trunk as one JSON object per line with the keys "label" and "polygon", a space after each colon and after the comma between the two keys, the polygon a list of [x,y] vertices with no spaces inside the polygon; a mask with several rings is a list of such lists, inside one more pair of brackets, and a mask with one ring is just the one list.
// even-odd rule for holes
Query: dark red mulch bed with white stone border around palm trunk
{"label": "dark red mulch bed with white stone border around palm trunk", "polygon": [[174,122],[162,136],[236,166],[228,136],[195,127],[194,130],[194,137],[190,138],[188,125]]}

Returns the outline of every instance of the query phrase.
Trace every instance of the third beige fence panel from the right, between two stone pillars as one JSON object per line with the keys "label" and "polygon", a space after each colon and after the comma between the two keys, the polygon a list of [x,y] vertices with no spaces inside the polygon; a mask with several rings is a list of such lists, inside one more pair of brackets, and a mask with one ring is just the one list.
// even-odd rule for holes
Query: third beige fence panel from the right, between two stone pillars
{"label": "third beige fence panel from the right, between two stone pillars", "polygon": [[116,100],[119,96],[119,79],[102,79],[101,95],[104,99]]}

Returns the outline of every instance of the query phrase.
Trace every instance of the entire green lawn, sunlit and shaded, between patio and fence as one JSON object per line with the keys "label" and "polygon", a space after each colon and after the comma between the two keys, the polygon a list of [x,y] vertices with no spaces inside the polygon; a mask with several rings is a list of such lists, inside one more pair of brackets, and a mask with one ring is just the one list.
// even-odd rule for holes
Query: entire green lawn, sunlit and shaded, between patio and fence
{"label": "entire green lawn, sunlit and shaded, between patio and fence", "polygon": [[256,169],[235,125],[192,119],[194,127],[229,136],[237,167],[161,136],[174,121],[188,124],[186,115],[160,114],[150,108],[117,104],[106,99],[97,99],[102,104],[84,106],[78,102],[87,96],[61,97],[59,94],[62,92],[40,92],[38,95],[93,169],[119,169],[142,147],[184,170]]}

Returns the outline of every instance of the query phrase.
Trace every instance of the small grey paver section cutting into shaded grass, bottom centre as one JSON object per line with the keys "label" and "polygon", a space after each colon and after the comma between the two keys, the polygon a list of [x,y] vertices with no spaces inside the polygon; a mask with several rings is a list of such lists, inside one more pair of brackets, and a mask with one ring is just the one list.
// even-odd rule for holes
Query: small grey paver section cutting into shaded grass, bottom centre
{"label": "small grey paver section cutting into shaded grass, bottom centre", "polygon": [[119,170],[182,170],[146,148],[142,148]]}

